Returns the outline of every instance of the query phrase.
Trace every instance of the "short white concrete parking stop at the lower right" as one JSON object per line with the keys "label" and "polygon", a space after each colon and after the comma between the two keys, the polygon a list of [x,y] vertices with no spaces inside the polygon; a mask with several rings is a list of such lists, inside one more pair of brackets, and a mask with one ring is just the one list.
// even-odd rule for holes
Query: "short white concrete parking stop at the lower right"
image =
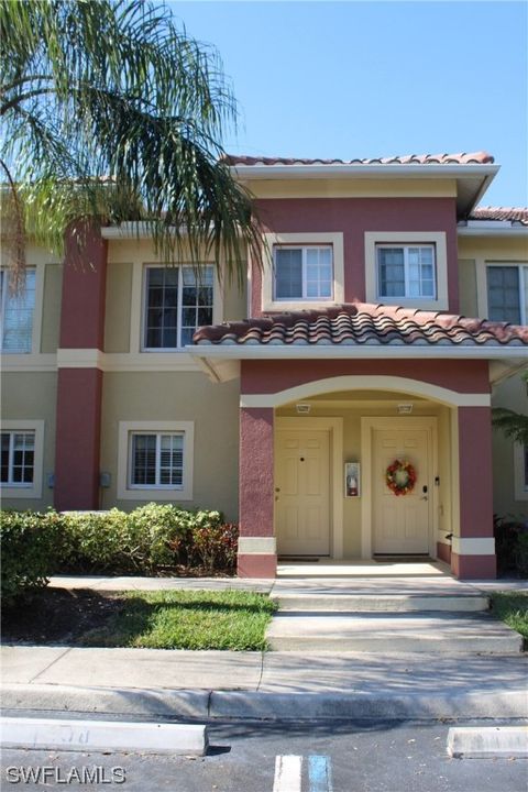
{"label": "short white concrete parking stop at the lower right", "polygon": [[528,726],[450,728],[448,754],[458,759],[528,758]]}

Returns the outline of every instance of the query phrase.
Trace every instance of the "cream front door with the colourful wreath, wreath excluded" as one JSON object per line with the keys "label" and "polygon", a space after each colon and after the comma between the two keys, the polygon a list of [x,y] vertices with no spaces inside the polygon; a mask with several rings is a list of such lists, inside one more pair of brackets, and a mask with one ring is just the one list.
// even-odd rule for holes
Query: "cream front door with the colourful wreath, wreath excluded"
{"label": "cream front door with the colourful wreath, wreath excluded", "polygon": [[[428,553],[431,519],[429,471],[430,432],[427,429],[375,429],[373,432],[373,552]],[[386,485],[395,460],[410,462],[417,473],[414,490],[395,495]]]}

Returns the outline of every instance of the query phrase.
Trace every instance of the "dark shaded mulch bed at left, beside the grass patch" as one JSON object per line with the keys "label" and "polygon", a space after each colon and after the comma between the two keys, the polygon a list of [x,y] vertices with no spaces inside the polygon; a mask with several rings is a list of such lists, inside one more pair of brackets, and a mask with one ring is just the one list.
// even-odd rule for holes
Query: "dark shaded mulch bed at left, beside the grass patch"
{"label": "dark shaded mulch bed at left, beside the grass patch", "polygon": [[2,642],[75,646],[123,607],[119,592],[41,588],[2,610]]}

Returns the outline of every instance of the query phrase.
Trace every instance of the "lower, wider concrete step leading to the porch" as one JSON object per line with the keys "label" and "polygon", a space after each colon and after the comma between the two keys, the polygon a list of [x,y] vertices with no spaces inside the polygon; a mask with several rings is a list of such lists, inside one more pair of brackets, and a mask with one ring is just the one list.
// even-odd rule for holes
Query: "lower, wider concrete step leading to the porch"
{"label": "lower, wider concrete step leading to the porch", "polygon": [[271,649],[277,651],[439,654],[522,651],[521,636],[488,614],[279,612],[266,637]]}

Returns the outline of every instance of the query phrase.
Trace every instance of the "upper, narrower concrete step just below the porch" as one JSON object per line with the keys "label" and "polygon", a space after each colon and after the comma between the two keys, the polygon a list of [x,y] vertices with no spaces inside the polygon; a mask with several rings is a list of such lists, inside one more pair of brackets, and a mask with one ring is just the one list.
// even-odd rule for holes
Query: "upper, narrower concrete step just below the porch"
{"label": "upper, narrower concrete step just below the porch", "polygon": [[483,594],[279,594],[272,595],[282,612],[400,613],[449,612],[477,613],[487,610],[488,597]]}

